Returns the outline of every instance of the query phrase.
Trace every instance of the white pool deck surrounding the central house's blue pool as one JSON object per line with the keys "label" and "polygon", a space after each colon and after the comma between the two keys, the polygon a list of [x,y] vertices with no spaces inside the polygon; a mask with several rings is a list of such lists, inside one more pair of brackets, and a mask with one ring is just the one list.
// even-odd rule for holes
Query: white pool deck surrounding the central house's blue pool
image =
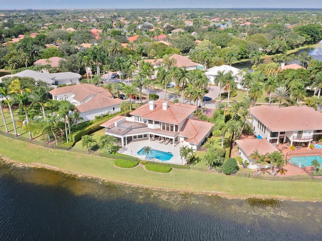
{"label": "white pool deck surrounding the central house's blue pool", "polygon": [[[171,152],[173,157],[169,161],[164,161],[165,163],[172,163],[172,164],[179,164],[179,165],[184,164],[183,160],[180,157],[180,148],[184,146],[182,143],[175,143],[175,146],[173,147],[171,143],[168,143],[166,145],[164,143],[159,143],[158,140],[149,141],[146,139],[141,141],[131,141],[125,147],[120,149],[118,153],[126,154],[129,156],[132,155],[133,157],[137,157],[141,160],[145,160],[145,156],[138,155],[137,152],[146,146],[149,146],[150,148],[158,151]],[[162,162],[157,159],[152,159],[152,161]]]}

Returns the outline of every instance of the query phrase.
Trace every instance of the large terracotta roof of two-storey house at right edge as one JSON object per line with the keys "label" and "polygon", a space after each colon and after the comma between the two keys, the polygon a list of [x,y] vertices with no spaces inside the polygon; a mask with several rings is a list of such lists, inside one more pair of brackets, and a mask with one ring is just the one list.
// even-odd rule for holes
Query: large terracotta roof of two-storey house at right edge
{"label": "large terracotta roof of two-storey house at right edge", "polygon": [[250,114],[272,132],[322,130],[322,113],[305,105],[281,108],[259,105],[251,107]]}

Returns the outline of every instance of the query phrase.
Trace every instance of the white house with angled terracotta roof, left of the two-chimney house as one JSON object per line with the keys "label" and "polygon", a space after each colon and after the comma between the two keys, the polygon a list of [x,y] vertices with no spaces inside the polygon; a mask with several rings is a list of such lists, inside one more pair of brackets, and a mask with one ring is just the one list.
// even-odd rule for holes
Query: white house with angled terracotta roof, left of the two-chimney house
{"label": "white house with angled terracotta roof, left of the two-chimney house", "polygon": [[95,119],[95,116],[120,111],[121,99],[103,87],[92,84],[76,84],[59,87],[49,91],[55,100],[66,99],[78,109],[83,121]]}

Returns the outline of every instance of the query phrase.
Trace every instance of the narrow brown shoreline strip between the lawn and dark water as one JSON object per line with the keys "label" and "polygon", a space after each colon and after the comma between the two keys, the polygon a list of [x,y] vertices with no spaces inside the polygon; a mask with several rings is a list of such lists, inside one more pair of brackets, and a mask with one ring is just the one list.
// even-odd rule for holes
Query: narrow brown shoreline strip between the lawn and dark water
{"label": "narrow brown shoreline strip between the lawn and dark water", "polygon": [[245,196],[245,195],[230,195],[228,193],[216,192],[216,191],[193,191],[193,190],[183,190],[183,189],[177,189],[177,188],[154,187],[154,186],[149,186],[149,185],[141,185],[141,184],[117,181],[117,180],[113,180],[113,179],[102,178],[102,177],[97,177],[97,176],[93,176],[93,175],[68,171],[68,170],[60,169],[58,167],[53,167],[50,165],[44,165],[44,164],[40,164],[40,163],[30,163],[30,164],[22,163],[22,162],[18,162],[15,160],[11,160],[11,159],[6,158],[1,155],[0,155],[0,162],[2,162],[5,165],[11,165],[14,168],[33,168],[33,169],[43,168],[46,170],[59,172],[61,174],[72,175],[76,179],[87,178],[88,180],[102,181],[102,182],[106,182],[106,183],[113,183],[113,184],[124,185],[124,186],[128,186],[128,187],[149,189],[149,190],[153,190],[153,191],[178,192],[178,193],[189,193],[189,194],[209,195],[209,196],[217,195],[219,197],[226,198],[226,199],[240,199],[240,200],[246,200],[248,198],[259,198],[259,199],[274,199],[274,200],[280,200],[280,201],[293,201],[293,202],[322,202],[322,200],[301,200],[301,199],[297,199],[297,198],[287,198],[284,196],[270,197],[270,196],[263,196],[263,195],[247,195],[247,196]]}

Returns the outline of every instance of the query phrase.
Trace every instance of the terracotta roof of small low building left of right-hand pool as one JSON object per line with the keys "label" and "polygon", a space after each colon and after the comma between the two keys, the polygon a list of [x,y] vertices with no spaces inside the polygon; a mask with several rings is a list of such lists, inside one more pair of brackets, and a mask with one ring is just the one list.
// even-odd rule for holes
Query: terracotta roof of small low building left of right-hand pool
{"label": "terracotta roof of small low building left of right-hand pool", "polygon": [[248,157],[252,155],[256,150],[259,154],[265,155],[266,153],[273,153],[278,151],[269,141],[266,139],[244,139],[236,140],[239,149],[243,151]]}

